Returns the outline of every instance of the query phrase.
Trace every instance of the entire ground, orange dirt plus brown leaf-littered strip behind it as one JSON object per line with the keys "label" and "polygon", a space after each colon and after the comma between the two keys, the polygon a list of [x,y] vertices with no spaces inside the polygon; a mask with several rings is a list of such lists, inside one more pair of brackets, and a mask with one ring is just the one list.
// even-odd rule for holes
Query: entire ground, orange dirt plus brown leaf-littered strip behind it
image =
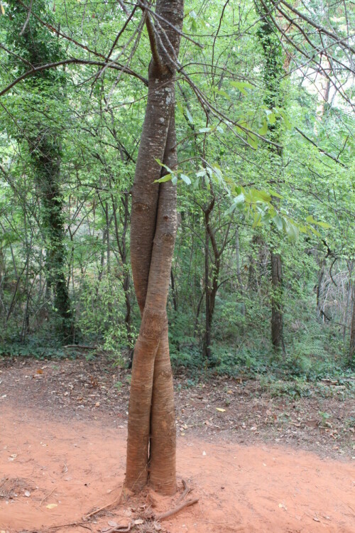
{"label": "entire ground, orange dirt plus brown leaf-littered strip behind it", "polygon": [[87,517],[121,493],[128,371],[0,359],[0,532],[355,532],[351,387],[291,385],[180,372],[179,488],[199,501],[154,522],[178,496],[149,491]]}

